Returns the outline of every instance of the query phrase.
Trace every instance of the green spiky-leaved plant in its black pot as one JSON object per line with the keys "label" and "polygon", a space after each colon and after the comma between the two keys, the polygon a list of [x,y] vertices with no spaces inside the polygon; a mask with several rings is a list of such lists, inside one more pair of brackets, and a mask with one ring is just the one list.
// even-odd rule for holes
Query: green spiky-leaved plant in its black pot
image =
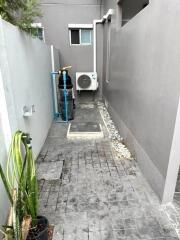
{"label": "green spiky-leaved plant in its black pot", "polygon": [[17,131],[12,139],[6,174],[0,176],[11,203],[5,240],[48,240],[48,220],[38,216],[38,183],[29,134]]}

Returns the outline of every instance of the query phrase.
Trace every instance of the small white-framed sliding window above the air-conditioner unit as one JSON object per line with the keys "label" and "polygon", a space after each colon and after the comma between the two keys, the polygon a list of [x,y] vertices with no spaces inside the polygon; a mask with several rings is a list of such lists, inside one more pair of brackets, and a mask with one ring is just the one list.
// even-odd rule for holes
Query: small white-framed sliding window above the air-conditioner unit
{"label": "small white-framed sliding window above the air-conditioner unit", "polygon": [[91,29],[70,29],[71,45],[91,45]]}

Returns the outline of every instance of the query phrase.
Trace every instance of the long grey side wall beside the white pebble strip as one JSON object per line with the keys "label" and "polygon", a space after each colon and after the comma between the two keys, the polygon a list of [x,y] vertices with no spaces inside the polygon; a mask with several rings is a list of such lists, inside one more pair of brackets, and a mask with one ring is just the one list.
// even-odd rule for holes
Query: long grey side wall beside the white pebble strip
{"label": "long grey side wall beside the white pebble strip", "polygon": [[[104,2],[105,12],[117,8],[116,0]],[[103,81],[112,116],[161,199],[180,93],[179,16],[178,0],[151,1],[122,28],[117,27],[115,14],[111,22],[110,82]],[[105,62],[106,41],[104,53]],[[168,201],[171,198],[166,196]]]}

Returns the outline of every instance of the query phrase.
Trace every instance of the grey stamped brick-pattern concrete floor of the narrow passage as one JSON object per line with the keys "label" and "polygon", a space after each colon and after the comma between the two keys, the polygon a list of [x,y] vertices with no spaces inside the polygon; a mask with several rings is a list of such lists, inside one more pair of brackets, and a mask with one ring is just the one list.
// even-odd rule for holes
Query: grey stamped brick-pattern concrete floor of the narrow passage
{"label": "grey stamped brick-pattern concrete floor of the narrow passage", "polygon": [[74,121],[101,123],[103,139],[68,140],[68,125],[53,123],[38,158],[39,212],[55,225],[53,239],[179,239],[178,210],[160,205],[136,161],[112,153],[92,106],[79,105]]}

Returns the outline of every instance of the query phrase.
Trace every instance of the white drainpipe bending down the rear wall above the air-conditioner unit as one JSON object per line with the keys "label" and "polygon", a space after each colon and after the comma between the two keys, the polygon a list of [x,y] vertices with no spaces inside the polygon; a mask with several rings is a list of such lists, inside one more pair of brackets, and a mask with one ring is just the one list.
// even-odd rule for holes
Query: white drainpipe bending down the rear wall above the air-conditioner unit
{"label": "white drainpipe bending down the rear wall above the air-conditioner unit", "polygon": [[109,19],[114,13],[113,9],[109,9],[106,15],[103,16],[102,19],[93,21],[93,71],[97,72],[97,24],[105,23],[107,19]]}

